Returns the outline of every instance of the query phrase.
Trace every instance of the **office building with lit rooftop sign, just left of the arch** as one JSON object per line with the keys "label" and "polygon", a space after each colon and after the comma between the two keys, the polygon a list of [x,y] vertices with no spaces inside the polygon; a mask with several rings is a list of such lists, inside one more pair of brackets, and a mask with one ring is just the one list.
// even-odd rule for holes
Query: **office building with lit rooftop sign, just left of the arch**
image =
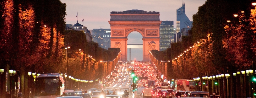
{"label": "office building with lit rooftop sign, just left of the arch", "polygon": [[99,44],[101,48],[108,49],[110,48],[110,29],[93,29],[90,30],[93,37],[93,42]]}

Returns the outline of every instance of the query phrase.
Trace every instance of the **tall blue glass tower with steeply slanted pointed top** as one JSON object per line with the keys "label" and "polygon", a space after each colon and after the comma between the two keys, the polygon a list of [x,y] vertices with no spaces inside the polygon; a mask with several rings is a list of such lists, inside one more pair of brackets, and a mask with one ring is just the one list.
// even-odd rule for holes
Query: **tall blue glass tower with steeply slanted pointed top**
{"label": "tall blue glass tower with steeply slanted pointed top", "polygon": [[192,21],[190,21],[187,15],[185,14],[185,3],[182,2],[182,7],[176,9],[176,11],[177,11],[177,23],[176,23],[177,33],[181,32],[182,28],[191,28],[193,25],[192,25]]}

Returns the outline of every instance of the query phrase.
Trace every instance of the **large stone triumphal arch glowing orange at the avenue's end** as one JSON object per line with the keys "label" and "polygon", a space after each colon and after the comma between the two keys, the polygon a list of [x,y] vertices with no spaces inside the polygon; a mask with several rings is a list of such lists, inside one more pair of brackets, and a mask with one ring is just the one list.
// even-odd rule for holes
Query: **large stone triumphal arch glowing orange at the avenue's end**
{"label": "large stone triumphal arch glowing orange at the avenue's end", "polygon": [[143,37],[143,61],[151,61],[149,50],[159,50],[159,27],[162,22],[159,16],[159,12],[143,10],[110,13],[111,48],[121,49],[120,60],[127,60],[127,36],[138,31]]}

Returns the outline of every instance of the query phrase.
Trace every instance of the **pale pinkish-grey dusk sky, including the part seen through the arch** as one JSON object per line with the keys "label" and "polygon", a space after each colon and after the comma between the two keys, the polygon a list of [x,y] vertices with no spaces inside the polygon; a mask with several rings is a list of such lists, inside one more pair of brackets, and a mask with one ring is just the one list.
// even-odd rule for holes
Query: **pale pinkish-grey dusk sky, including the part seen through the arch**
{"label": "pale pinkish-grey dusk sky, including the part seen through the arch", "polygon": [[[60,0],[62,3],[66,3],[66,24],[76,24],[77,20],[79,24],[84,25],[88,30],[98,29],[103,27],[104,29],[110,29],[110,12],[112,11],[127,11],[132,9],[144,10],[144,11],[156,11],[160,12],[160,21],[174,21],[174,28],[176,28],[176,9],[182,6],[182,2],[185,2],[185,14],[190,21],[193,14],[198,12],[198,7],[202,6],[206,0]],[[78,13],[78,17],[76,17]],[[84,21],[82,22],[82,20]],[[128,35],[128,44],[142,44],[142,36],[139,32],[132,32]],[[140,38],[141,37],[141,38]],[[130,39],[129,39],[130,38]],[[136,39],[137,38],[137,39]],[[141,40],[141,41],[139,41]],[[133,52],[133,50],[135,52]],[[135,55],[138,55],[139,50],[132,49],[132,59]],[[129,51],[128,51],[129,52]],[[129,54],[129,53],[128,53]],[[142,60],[141,57],[136,58]],[[128,57],[129,60],[129,57]]]}

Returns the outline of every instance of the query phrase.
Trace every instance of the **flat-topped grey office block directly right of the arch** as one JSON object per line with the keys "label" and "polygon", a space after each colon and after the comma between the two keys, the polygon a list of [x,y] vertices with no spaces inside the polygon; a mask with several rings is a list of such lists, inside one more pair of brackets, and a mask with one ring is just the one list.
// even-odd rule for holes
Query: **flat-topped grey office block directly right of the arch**
{"label": "flat-topped grey office block directly right of the arch", "polygon": [[164,51],[171,46],[174,41],[173,21],[162,21],[160,24],[160,51]]}

